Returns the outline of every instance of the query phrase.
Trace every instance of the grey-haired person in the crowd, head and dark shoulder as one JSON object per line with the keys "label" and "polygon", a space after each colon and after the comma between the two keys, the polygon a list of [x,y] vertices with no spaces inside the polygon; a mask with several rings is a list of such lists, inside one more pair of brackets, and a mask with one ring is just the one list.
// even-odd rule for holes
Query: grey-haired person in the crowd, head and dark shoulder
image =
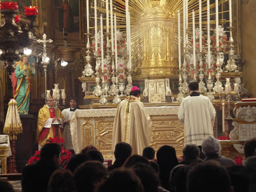
{"label": "grey-haired person in the crowd, head and dark shoulder", "polygon": [[205,160],[215,160],[219,162],[223,167],[236,166],[236,162],[233,159],[220,157],[220,142],[213,136],[206,137],[202,141],[202,153],[205,154]]}

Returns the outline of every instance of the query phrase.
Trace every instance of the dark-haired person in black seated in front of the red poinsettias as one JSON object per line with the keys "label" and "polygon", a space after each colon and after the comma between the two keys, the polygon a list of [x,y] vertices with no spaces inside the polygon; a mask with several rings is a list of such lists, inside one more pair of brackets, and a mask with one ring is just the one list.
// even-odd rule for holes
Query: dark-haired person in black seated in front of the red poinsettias
{"label": "dark-haired person in black seated in front of the red poinsettias", "polygon": [[52,173],[59,168],[60,145],[45,144],[41,149],[40,160],[23,168],[21,186],[23,192],[46,192]]}

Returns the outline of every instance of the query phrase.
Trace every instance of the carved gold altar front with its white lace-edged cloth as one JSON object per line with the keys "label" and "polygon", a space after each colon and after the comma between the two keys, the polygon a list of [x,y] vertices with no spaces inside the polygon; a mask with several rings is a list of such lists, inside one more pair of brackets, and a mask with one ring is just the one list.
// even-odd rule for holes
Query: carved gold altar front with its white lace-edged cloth
{"label": "carved gold altar front with its white lace-edged cloth", "polygon": [[[151,147],[157,151],[163,145],[173,146],[177,157],[182,156],[183,124],[178,119],[178,106],[145,108],[151,117],[153,130]],[[94,145],[105,159],[112,158],[112,130],[116,109],[76,110],[70,121],[70,131],[76,153]],[[142,154],[140,154],[142,155]]]}

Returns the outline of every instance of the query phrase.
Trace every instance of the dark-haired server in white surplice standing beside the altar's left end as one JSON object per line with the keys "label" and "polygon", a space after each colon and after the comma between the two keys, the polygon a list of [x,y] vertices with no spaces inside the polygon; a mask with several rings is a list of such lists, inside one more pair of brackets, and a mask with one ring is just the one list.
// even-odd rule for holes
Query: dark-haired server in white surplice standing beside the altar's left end
{"label": "dark-haired server in white surplice standing beside the altar's left end", "polygon": [[70,108],[64,109],[62,111],[63,117],[65,118],[63,136],[64,136],[64,141],[65,141],[65,147],[68,150],[72,151],[73,150],[73,145],[72,145],[72,137],[71,137],[71,134],[70,134],[70,125],[69,125],[69,123],[70,123],[70,119],[73,117],[74,111],[77,109],[77,98],[72,97],[69,100],[69,105],[70,105]]}

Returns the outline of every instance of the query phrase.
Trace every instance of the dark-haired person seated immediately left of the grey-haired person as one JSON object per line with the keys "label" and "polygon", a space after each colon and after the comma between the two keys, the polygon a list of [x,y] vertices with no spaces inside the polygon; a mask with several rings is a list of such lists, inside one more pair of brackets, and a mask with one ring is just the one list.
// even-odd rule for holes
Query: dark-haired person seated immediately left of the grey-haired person
{"label": "dark-haired person seated immediately left of the grey-haired person", "polygon": [[198,162],[202,162],[199,158],[200,149],[195,144],[187,144],[183,150],[183,160],[179,164],[193,165]]}

